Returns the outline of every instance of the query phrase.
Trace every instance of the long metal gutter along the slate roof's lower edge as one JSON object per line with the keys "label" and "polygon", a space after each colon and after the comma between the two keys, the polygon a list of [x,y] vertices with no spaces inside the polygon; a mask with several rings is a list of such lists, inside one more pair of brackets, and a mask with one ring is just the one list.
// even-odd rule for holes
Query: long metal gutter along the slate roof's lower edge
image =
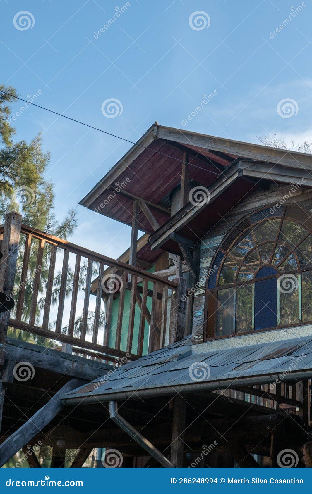
{"label": "long metal gutter along the slate roof's lower edge", "polygon": [[[281,379],[282,376],[282,379]],[[191,393],[193,391],[213,391],[216,389],[226,389],[231,386],[244,386],[255,384],[267,384],[274,382],[277,379],[283,381],[294,381],[295,379],[311,379],[312,369],[309,371],[291,372],[284,375],[279,374],[264,374],[250,377],[234,377],[232,379],[222,379],[216,381],[196,382],[191,384],[167,385],[155,388],[140,388],[129,389],[128,391],[117,391],[105,394],[90,394],[84,393],[80,395],[66,394],[61,397],[62,403],[69,406],[77,406],[80,404],[87,405],[92,403],[107,403],[116,400],[129,400],[137,398],[153,398],[157,396],[175,395],[176,393]]]}

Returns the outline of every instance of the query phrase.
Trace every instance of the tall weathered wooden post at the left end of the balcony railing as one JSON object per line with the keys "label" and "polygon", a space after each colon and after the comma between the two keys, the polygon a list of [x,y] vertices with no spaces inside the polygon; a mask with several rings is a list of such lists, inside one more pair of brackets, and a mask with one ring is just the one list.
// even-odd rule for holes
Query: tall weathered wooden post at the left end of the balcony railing
{"label": "tall weathered wooden post at the left end of the balcony railing", "polygon": [[[0,260],[0,291],[12,296],[16,272],[16,260],[21,233],[21,215],[13,211],[5,215],[3,239]],[[0,314],[0,430],[2,421],[2,407],[4,401],[4,387],[2,373],[4,365],[4,346],[6,343],[7,328],[10,320],[10,311]]]}

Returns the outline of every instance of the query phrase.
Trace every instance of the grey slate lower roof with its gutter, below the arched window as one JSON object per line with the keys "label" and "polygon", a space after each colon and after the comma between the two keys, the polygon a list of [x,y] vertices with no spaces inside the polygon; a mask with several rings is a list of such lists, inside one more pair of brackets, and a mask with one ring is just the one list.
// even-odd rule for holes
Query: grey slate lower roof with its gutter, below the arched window
{"label": "grey slate lower roof with its gutter, below the arched window", "polygon": [[[240,338],[243,338],[241,336]],[[202,368],[202,370],[200,369]],[[191,336],[129,362],[110,375],[67,393],[67,405],[80,401],[124,400],[176,391],[304,378],[312,372],[312,336],[192,353]],[[259,380],[261,377],[261,380]]]}

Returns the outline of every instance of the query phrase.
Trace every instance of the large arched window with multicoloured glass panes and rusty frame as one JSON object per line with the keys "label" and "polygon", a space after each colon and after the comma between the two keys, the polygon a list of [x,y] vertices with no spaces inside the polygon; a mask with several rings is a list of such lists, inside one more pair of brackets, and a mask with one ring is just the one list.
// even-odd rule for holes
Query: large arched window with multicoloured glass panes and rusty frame
{"label": "large arched window with multicoloured glass panes and rusty frame", "polygon": [[312,322],[312,214],[275,205],[240,220],[207,281],[208,336]]}

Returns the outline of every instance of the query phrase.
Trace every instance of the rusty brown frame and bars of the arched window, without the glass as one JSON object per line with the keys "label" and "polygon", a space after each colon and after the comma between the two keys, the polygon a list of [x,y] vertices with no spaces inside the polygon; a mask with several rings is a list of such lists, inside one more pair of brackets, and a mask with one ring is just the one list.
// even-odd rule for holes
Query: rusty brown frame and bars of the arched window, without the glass
{"label": "rusty brown frame and bars of the arched window, without the glass", "polygon": [[[204,319],[204,341],[206,340],[210,340],[210,339],[223,339],[223,338],[231,338],[231,337],[234,337],[234,336],[242,336],[242,335],[248,335],[248,334],[255,334],[255,333],[260,333],[260,332],[263,332],[263,331],[271,331],[271,330],[278,330],[278,329],[285,329],[285,328],[295,328],[295,327],[298,327],[298,326],[303,326],[303,325],[308,325],[308,324],[312,324],[312,320],[309,320],[309,321],[302,321],[303,320],[303,314],[301,313],[301,321],[299,322],[296,322],[296,323],[292,323],[292,324],[283,324],[283,325],[277,325],[275,327],[268,327],[268,328],[264,328],[264,329],[252,329],[250,331],[244,331],[244,332],[235,332],[236,331],[236,328],[234,328],[234,331],[231,333],[231,334],[224,334],[224,335],[218,335],[217,336],[217,304],[218,304],[218,291],[221,289],[226,289],[226,288],[234,288],[235,291],[236,291],[236,287],[237,286],[241,286],[241,285],[247,285],[247,284],[255,284],[257,283],[258,281],[262,281],[262,280],[267,280],[267,279],[274,279],[276,278],[276,280],[284,275],[284,274],[294,274],[294,275],[297,275],[299,280],[300,280],[300,293],[302,291],[302,273],[305,273],[307,271],[312,271],[312,261],[311,261],[311,265],[309,266],[301,266],[300,265],[300,260],[295,252],[295,250],[303,243],[305,242],[305,240],[309,237],[309,235],[312,236],[312,212],[307,209],[307,208],[303,208],[301,206],[297,206],[296,204],[292,204],[292,203],[284,203],[283,205],[280,205],[278,206],[281,213],[279,215],[272,215],[272,217],[270,218],[269,216],[267,217],[264,217],[258,221],[255,221],[255,222],[252,222],[251,221],[251,217],[253,215],[256,215],[257,213],[260,213],[261,211],[267,211],[268,209],[270,209],[270,207],[276,207],[276,203],[274,205],[268,205],[266,207],[260,207],[260,208],[257,208],[253,211],[251,211],[250,213],[248,213],[247,215],[243,216],[237,223],[235,223],[231,228],[230,230],[227,232],[227,234],[224,236],[221,244],[219,245],[219,247],[216,249],[216,252],[212,258],[212,261],[210,263],[210,267],[209,267],[209,270],[208,270],[208,276],[207,276],[207,280],[206,280],[206,286],[205,286],[205,304],[204,304],[204,311],[205,311],[205,319]],[[292,207],[292,208],[295,208],[295,209],[300,209],[301,211],[304,211],[306,213],[306,215],[309,217],[310,219],[310,225],[305,225],[305,221],[302,220],[300,221],[298,218],[294,218],[294,217],[291,217],[287,214],[287,207]],[[269,220],[273,220],[273,219],[276,219],[276,220],[279,220],[279,227],[278,227],[278,230],[277,230],[277,234],[276,234],[276,237],[274,240],[271,241],[271,239],[267,239],[267,241],[265,242],[261,242],[259,244],[256,244],[255,247],[253,247],[245,256],[243,256],[241,262],[238,264],[238,269],[237,269],[237,272],[235,274],[235,279],[234,279],[234,282],[231,283],[231,284],[224,284],[224,285],[220,285],[219,286],[219,279],[220,279],[220,274],[221,274],[221,271],[223,269],[223,265],[224,265],[224,262],[226,259],[228,259],[228,254],[230,252],[230,250],[233,248],[234,244],[239,240],[239,238],[242,238],[243,235],[246,235],[246,233],[256,227],[258,227],[258,225],[260,225],[261,223],[264,223],[265,221],[269,221]],[[273,256],[274,256],[274,252],[275,252],[275,249],[276,249],[276,246],[277,245],[285,245],[287,246],[287,244],[285,242],[281,242],[278,240],[279,238],[279,235],[280,235],[280,232],[281,232],[281,227],[282,227],[282,224],[283,224],[283,221],[284,219],[288,219],[294,223],[298,223],[298,225],[302,226],[303,228],[305,228],[307,230],[307,234],[305,236],[303,236],[299,242],[297,242],[297,244],[293,247],[291,247],[287,254],[281,258],[279,260],[279,262],[277,263],[276,266],[272,265],[271,264],[271,261],[273,259]],[[247,226],[247,223],[246,223],[246,220],[248,221],[248,226]],[[241,230],[241,231],[238,231],[238,233],[235,235],[235,237],[233,238],[233,240],[230,242],[230,244],[227,246],[226,249],[223,248],[223,244],[227,243],[228,241],[228,237],[230,237],[232,234],[233,234],[233,231],[236,229],[236,230],[239,230],[239,227],[241,224],[245,223],[246,227]],[[244,264],[244,260],[246,259],[246,257],[254,250],[256,250],[258,247],[262,246],[262,245],[267,245],[268,243],[274,243],[274,246],[273,246],[273,249],[272,249],[272,255],[270,256],[269,260],[270,260],[270,263],[268,264],[262,264],[258,269],[257,271],[255,271],[254,273],[254,277],[253,279],[251,280],[245,280],[245,281],[242,281],[242,282],[237,282],[237,277],[238,277],[238,274],[239,274],[239,271],[240,271],[240,267]],[[288,247],[289,244],[288,244]],[[216,262],[216,258],[218,256],[218,253],[221,252],[223,254],[223,258],[220,262],[220,265],[219,265],[219,268],[218,268],[218,273],[217,273],[217,278],[216,278],[216,283],[215,283],[215,286],[213,288],[208,288],[209,286],[209,280],[210,280],[210,276],[211,276],[211,271],[214,271],[214,265],[215,265],[215,262]],[[260,278],[256,278],[256,274],[258,273],[258,271],[260,271],[264,266],[271,266],[271,267],[274,267],[275,269],[277,267],[279,267],[290,255],[291,253],[293,253],[296,257],[296,260],[297,260],[297,268],[296,269],[293,269],[293,270],[285,270],[283,271],[282,273],[277,273],[276,276],[274,275],[270,275],[270,276],[265,276],[265,277],[260,277]],[[300,304],[300,307],[302,305],[302,301],[300,300],[299,301],[299,304]],[[253,307],[254,308],[254,307]],[[236,306],[235,306],[235,311],[236,311]],[[236,320],[236,313],[235,313],[235,320]]]}

